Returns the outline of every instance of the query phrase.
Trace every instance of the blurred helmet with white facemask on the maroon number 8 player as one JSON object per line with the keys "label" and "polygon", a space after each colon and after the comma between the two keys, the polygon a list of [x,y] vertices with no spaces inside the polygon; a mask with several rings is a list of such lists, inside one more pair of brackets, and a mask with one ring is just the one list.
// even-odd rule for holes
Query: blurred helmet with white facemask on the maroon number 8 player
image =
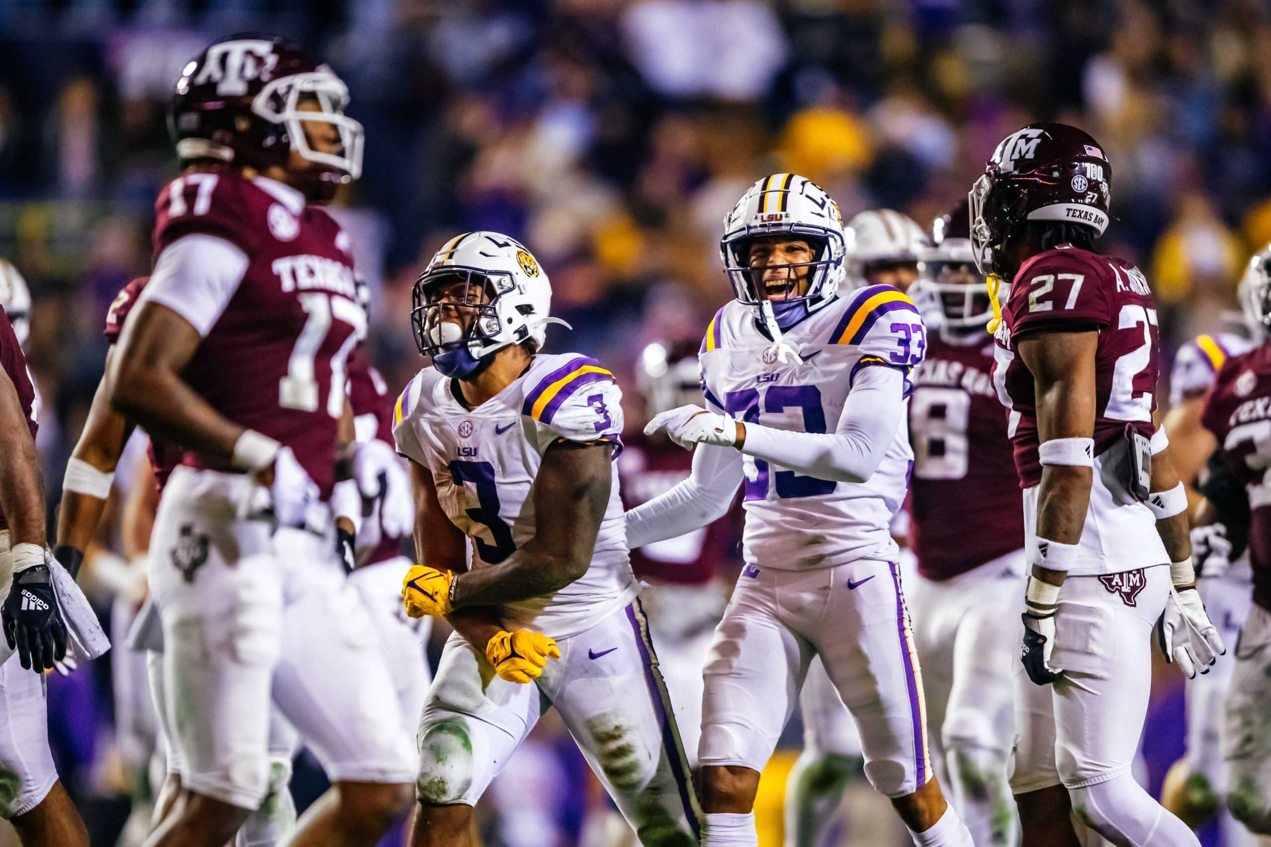
{"label": "blurred helmet with white facemask on the maroon number 8 player", "polygon": [[975,264],[966,199],[932,223],[932,246],[923,250],[921,259],[921,274],[909,296],[919,305],[928,328],[984,329],[993,317],[993,303]]}

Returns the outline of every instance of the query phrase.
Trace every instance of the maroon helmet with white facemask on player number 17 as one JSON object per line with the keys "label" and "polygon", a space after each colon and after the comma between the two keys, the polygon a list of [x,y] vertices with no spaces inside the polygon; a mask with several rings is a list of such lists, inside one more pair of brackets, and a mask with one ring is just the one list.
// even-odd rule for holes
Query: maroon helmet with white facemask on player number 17
{"label": "maroon helmet with white facemask on player number 17", "polygon": [[[316,110],[301,109],[315,104]],[[344,114],[348,88],[325,65],[275,36],[230,36],[191,60],[177,80],[168,126],[182,164],[198,160],[290,169],[291,151],[308,160],[296,185],[330,199],[362,173],[362,124]],[[305,123],[333,124],[339,152],[314,150]]]}

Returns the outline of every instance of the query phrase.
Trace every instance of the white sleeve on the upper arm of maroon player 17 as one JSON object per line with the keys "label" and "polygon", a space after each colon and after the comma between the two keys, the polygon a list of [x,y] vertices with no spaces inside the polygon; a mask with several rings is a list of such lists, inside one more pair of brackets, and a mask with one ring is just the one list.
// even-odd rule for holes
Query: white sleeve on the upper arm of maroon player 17
{"label": "white sleeve on the upper arm of maroon player 17", "polygon": [[247,254],[215,235],[183,235],[159,254],[139,302],[173,310],[207,335],[247,273]]}

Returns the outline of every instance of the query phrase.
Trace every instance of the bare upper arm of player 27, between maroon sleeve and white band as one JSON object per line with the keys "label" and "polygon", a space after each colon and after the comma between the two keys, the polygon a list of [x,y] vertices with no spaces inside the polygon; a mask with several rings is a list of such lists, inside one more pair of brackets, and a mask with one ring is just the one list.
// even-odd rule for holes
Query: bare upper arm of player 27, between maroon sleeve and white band
{"label": "bare upper arm of player 27, between maroon sleeve and white band", "polygon": [[1042,333],[1021,339],[1016,349],[1033,376],[1037,434],[1052,438],[1094,436],[1094,356],[1097,331]]}

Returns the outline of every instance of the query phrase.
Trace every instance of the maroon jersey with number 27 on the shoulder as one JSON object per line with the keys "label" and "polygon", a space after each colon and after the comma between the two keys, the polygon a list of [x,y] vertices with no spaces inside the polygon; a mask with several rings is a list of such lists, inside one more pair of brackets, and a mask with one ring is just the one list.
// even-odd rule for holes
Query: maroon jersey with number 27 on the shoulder
{"label": "maroon jersey with number 27 on the shoulder", "polygon": [[1134,265],[1073,246],[1032,257],[1016,273],[996,333],[993,380],[1007,406],[1021,488],[1041,481],[1033,376],[1016,354],[1022,338],[1046,331],[1098,330],[1094,354],[1094,455],[1122,437],[1126,424],[1144,437],[1160,376],[1157,307]]}

